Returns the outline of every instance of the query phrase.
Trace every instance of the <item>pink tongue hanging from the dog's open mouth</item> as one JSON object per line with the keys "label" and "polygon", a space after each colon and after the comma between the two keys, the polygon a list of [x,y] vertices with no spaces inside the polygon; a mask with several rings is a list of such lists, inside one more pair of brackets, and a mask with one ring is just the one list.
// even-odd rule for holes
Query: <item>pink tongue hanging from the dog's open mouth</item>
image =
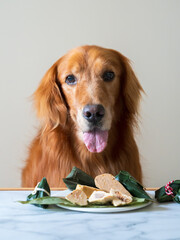
{"label": "pink tongue hanging from the dog's open mouth", "polygon": [[90,152],[102,152],[108,140],[108,131],[94,130],[83,134],[84,143]]}

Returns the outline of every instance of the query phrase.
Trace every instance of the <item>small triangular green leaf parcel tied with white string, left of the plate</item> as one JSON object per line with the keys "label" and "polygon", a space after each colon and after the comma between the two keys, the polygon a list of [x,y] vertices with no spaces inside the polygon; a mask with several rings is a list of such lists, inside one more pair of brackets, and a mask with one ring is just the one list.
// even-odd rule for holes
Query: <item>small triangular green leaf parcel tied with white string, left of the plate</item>
{"label": "small triangular green leaf parcel tied with white string, left of the plate", "polygon": [[[50,191],[50,188],[49,188],[49,184],[48,184],[46,178],[44,177],[41,180],[41,182],[39,182],[37,184],[34,191],[27,196],[27,201],[49,196],[50,193],[51,193],[51,191]],[[42,208],[47,208],[48,207],[48,205],[41,205],[41,204],[35,204],[35,206],[42,207]]]}

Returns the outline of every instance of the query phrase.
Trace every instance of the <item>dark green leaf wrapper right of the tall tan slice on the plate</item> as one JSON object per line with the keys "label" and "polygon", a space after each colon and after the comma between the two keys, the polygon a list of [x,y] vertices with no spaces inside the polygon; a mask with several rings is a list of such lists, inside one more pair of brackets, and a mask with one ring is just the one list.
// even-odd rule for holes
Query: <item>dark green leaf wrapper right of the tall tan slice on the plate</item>
{"label": "dark green leaf wrapper right of the tall tan slice on the plate", "polygon": [[128,172],[120,171],[115,178],[132,194],[133,197],[152,200],[144,190],[143,186]]}

